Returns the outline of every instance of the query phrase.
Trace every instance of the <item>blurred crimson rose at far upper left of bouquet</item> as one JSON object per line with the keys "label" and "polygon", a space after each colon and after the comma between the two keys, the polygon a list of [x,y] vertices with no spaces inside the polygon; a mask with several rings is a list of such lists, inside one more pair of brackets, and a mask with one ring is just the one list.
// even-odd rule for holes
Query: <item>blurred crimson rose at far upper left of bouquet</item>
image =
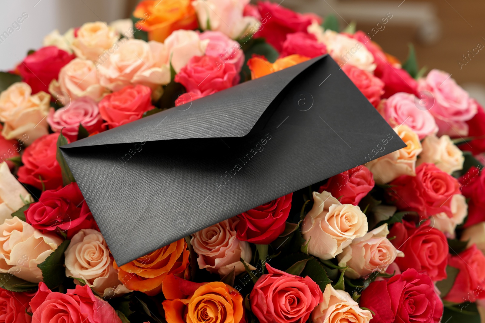
{"label": "blurred crimson rose at far upper left of bouquet", "polygon": [[32,88],[32,94],[39,91],[49,93],[49,83],[57,79],[61,68],[75,58],[74,54],[56,46],[42,47],[18,64],[22,80]]}

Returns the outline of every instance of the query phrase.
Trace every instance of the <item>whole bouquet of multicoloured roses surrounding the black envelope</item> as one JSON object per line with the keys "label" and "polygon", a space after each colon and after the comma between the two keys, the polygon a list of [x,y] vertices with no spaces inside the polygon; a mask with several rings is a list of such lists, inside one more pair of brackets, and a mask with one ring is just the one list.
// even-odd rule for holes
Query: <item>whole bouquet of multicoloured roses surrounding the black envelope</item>
{"label": "whole bouquet of multicoloured roses surrounding the black envelope", "polygon": [[[401,63],[355,24],[248,2],[143,0],[1,72],[0,322],[480,322],[483,108],[412,47]],[[119,266],[58,147],[323,54],[395,133]],[[374,158],[394,136],[407,146]]]}

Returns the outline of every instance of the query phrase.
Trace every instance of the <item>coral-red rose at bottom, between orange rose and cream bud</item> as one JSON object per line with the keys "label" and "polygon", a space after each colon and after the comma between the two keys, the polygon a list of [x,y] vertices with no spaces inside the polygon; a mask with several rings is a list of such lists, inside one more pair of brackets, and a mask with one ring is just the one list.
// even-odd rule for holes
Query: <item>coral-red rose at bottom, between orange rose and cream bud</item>
{"label": "coral-red rose at bottom, between orange rose and cream bud", "polygon": [[260,323],[305,323],[323,302],[320,287],[310,277],[299,277],[266,263],[268,274],[259,277],[249,301]]}

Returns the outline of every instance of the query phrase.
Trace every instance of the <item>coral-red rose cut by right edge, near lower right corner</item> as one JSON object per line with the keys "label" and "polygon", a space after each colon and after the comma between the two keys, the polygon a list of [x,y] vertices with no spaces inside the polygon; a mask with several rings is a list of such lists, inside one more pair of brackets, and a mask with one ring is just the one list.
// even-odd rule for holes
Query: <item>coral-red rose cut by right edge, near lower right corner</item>
{"label": "coral-red rose cut by right edge, near lower right corner", "polygon": [[485,256],[475,244],[456,256],[450,255],[448,264],[460,271],[444,300],[473,303],[485,298]]}

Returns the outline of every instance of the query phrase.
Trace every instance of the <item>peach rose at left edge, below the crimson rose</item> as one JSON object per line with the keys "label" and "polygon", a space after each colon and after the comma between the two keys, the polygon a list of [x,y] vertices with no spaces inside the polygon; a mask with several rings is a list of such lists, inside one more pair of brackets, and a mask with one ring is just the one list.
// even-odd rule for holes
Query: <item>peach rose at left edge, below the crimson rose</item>
{"label": "peach rose at left edge, below the crimson rose", "polygon": [[0,94],[0,121],[2,136],[19,139],[30,145],[35,139],[47,135],[47,114],[50,95],[40,91],[32,94],[31,87],[16,82]]}

